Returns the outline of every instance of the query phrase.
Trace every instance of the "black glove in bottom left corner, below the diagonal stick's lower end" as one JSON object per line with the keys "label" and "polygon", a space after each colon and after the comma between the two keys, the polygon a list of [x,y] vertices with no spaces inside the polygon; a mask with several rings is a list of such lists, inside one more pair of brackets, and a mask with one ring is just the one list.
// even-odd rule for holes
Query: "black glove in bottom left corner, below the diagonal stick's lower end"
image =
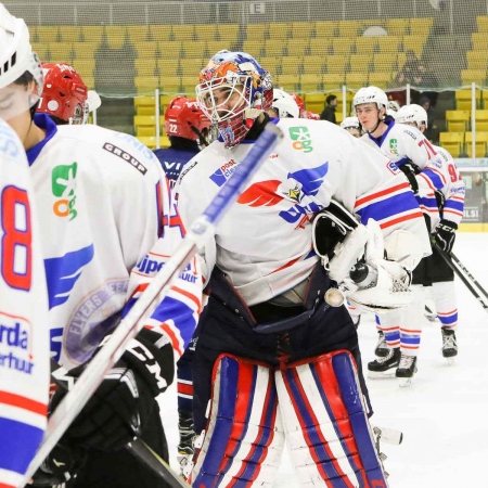
{"label": "black glove in bottom left corner, below the diagonal stick's lower end", "polygon": [[57,442],[33,476],[33,487],[53,487],[76,478],[87,461],[87,450],[64,438]]}

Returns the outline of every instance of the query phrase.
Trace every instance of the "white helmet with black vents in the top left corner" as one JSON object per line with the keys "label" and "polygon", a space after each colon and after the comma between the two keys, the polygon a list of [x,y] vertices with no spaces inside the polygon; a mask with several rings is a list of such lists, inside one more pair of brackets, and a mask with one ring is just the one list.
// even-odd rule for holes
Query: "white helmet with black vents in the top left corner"
{"label": "white helmet with black vents in the top left corner", "polygon": [[[29,41],[29,30],[22,18],[16,18],[0,3],[0,90],[13,90],[9,86],[16,81],[24,73],[30,73],[37,85],[35,92],[28,97],[28,107],[33,106],[42,92],[43,75],[39,57],[33,52]],[[18,90],[17,90],[18,91]],[[25,104],[18,105],[17,114],[25,110]],[[9,113],[0,114],[2,118],[10,118]]]}

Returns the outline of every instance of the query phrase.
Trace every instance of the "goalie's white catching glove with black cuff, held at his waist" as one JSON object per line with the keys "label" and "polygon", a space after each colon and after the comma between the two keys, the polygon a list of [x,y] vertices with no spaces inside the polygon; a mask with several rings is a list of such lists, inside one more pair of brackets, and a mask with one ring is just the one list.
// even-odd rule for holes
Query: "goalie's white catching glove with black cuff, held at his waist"
{"label": "goalie's white catching glove with black cuff, held at his waist", "polygon": [[[341,204],[331,202],[313,221],[313,246],[329,275],[338,283],[338,293],[352,305],[378,313],[412,301],[409,270],[423,254],[420,241],[410,232],[395,231],[384,242],[375,220],[364,227]],[[349,274],[359,260],[375,274],[367,285],[355,283]]]}

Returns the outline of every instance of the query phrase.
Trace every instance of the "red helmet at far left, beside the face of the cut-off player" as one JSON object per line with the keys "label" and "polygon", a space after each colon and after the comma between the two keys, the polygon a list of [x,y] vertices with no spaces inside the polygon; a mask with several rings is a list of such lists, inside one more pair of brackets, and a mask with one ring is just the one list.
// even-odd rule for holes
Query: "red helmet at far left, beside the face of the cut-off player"
{"label": "red helmet at far left, beside the face of the cut-off player", "polygon": [[77,70],[66,63],[42,63],[44,89],[37,112],[69,124],[82,124],[88,87]]}

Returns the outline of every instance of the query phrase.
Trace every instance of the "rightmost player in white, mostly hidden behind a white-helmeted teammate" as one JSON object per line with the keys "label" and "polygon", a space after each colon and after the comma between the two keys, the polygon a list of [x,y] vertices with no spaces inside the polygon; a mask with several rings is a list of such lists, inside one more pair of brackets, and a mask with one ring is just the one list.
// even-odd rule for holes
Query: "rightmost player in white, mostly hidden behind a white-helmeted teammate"
{"label": "rightmost player in white, mostly hidden behind a white-helmeted teammate", "polygon": [[[397,114],[398,123],[416,127],[422,133],[427,129],[427,113],[416,104],[404,105]],[[433,237],[440,248],[449,254],[455,240],[464,208],[465,185],[452,156],[444,147],[433,145],[440,163],[433,162],[416,176],[419,184],[427,184],[436,192],[441,220],[434,229]],[[434,203],[434,202],[432,202]],[[431,205],[427,200],[426,205]],[[451,360],[458,355],[455,329],[458,326],[458,304],[455,298],[454,272],[433,247],[432,256],[421,261],[413,272],[413,283],[432,286],[432,296],[441,325],[442,356]]]}

